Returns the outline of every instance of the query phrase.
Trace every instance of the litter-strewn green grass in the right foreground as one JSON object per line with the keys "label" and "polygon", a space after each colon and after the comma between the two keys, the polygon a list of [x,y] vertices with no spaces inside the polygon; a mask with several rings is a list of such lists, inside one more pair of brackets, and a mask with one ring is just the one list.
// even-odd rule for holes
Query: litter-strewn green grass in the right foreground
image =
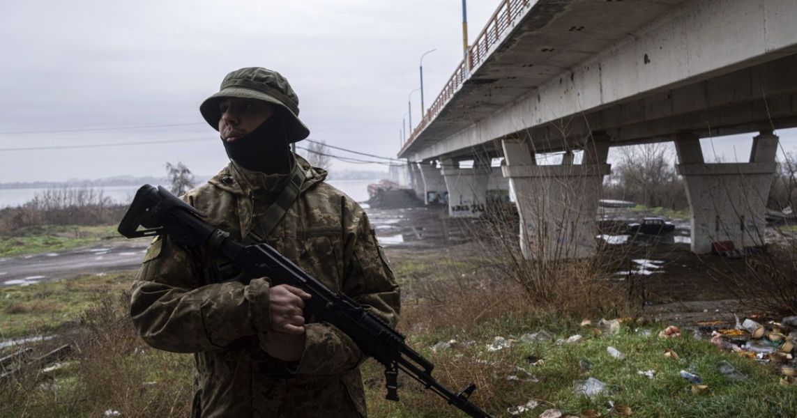
{"label": "litter-strewn green grass in the right foreground", "polygon": [[[548,326],[544,326],[547,322]],[[557,326],[562,329],[556,332]],[[430,346],[434,342],[456,338],[465,342],[462,334],[450,330],[438,330],[435,334],[412,338],[416,349],[438,365],[436,375],[440,380],[448,380],[450,373],[461,375],[450,382],[450,389],[461,389],[472,379],[481,384],[481,389],[471,398],[482,408],[496,416],[506,415],[507,408],[526,404],[528,400],[540,403],[528,416],[537,416],[545,409],[559,408],[575,416],[585,409],[595,409],[607,416],[609,401],[630,406],[634,416],[795,416],[797,414],[797,390],[795,387],[779,385],[779,373],[770,365],[761,365],[748,358],[723,352],[706,340],[697,340],[690,334],[681,338],[658,338],[663,326],[656,326],[650,336],[634,332],[623,326],[619,334],[592,336],[590,329],[579,330],[585,336],[583,342],[573,345],[557,346],[555,342],[524,344],[516,342],[513,346],[497,352],[486,350],[493,336],[519,339],[520,335],[545,328],[556,334],[557,338],[567,338],[575,329],[572,323],[561,318],[512,318],[485,324],[481,330],[474,330],[467,338],[473,345],[460,344],[446,351],[433,353]],[[566,332],[565,332],[566,331]],[[588,335],[589,334],[589,335]],[[607,347],[614,346],[626,359],[617,360],[607,353]],[[666,349],[674,350],[680,360],[664,357]],[[543,360],[538,365],[530,365],[528,357]],[[592,364],[589,371],[579,366],[580,360]],[[718,361],[728,361],[741,373],[748,376],[745,381],[729,381],[717,370]],[[485,370],[480,370],[484,369]],[[515,367],[528,370],[536,379],[533,381],[508,381],[514,374],[523,377]],[[701,374],[709,393],[696,395],[691,392],[688,381],[679,376],[681,369],[693,367]],[[457,372],[457,369],[459,371]],[[471,369],[468,372],[461,369]],[[639,370],[655,370],[654,378],[642,376]],[[452,372],[454,370],[454,372]],[[446,405],[444,400],[427,393],[419,385],[406,384],[399,390],[402,402],[391,403],[384,400],[384,389],[379,377],[381,366],[369,363],[366,368],[366,381],[378,384],[367,389],[369,407],[375,416],[459,416],[455,408]],[[610,391],[590,400],[573,393],[573,381],[595,377],[603,381]],[[471,380],[469,380],[471,379]],[[482,379],[482,381],[479,381]],[[486,379],[486,381],[484,381]],[[480,395],[480,390],[484,393]],[[486,393],[486,395],[485,395]]]}

